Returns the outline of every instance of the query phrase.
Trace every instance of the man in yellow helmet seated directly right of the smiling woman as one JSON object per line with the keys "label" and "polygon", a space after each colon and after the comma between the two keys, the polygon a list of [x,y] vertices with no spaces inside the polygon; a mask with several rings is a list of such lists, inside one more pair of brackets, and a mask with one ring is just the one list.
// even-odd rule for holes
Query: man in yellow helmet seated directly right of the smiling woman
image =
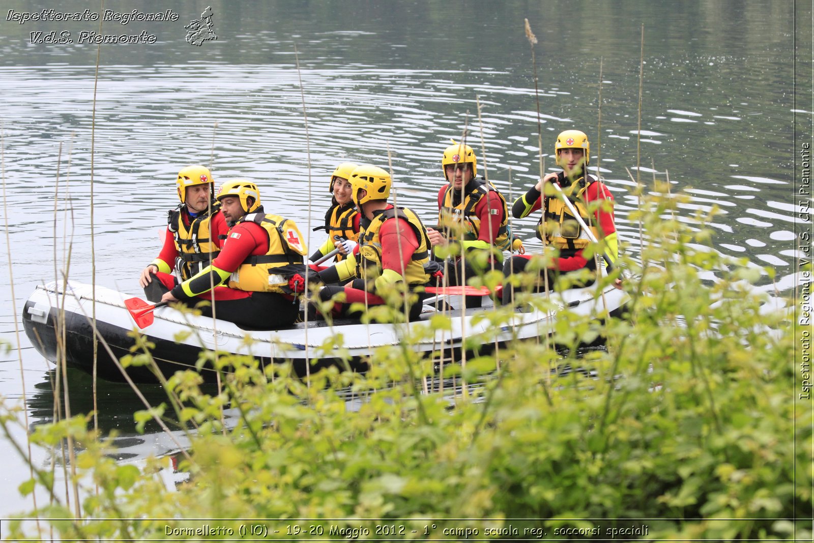
{"label": "man in yellow helmet seated directly right of the smiling woman", "polygon": [[[353,278],[344,287],[329,286],[320,298],[331,300],[344,293],[344,303],[334,305],[339,316],[357,317],[350,305],[383,305],[393,294],[409,300],[409,320],[421,313],[423,287],[429,282],[424,265],[430,260],[430,240],[418,215],[409,208],[396,208],[387,202],[392,179],[385,170],[370,164],[354,169],[350,176],[353,202],[361,214],[359,245],[344,261],[322,270],[323,282]],[[396,298],[396,300],[403,300]],[[399,307],[404,307],[399,302]]]}

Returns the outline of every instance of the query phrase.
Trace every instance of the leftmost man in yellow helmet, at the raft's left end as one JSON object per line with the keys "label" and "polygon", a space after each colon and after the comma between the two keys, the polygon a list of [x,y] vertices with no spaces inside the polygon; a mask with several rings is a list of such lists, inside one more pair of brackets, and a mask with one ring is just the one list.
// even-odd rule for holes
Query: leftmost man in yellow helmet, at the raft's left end
{"label": "leftmost man in yellow helmet, at the raft's left end", "polygon": [[[181,281],[204,269],[221,250],[222,237],[228,230],[218,212],[219,205],[212,199],[214,181],[208,168],[187,166],[178,172],[176,186],[181,204],[168,214],[164,247],[138,279],[147,299],[154,302],[176,284],[173,269]],[[154,275],[164,288],[153,283]]]}

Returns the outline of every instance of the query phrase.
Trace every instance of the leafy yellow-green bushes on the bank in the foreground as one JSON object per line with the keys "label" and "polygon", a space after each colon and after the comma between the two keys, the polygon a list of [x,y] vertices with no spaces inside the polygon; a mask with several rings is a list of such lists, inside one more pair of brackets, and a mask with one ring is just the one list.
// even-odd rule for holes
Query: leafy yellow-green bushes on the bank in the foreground
{"label": "leafy yellow-green bushes on the bank in the foreground", "polygon": [[[423,389],[436,369],[410,338],[375,353],[366,374],[307,381],[287,366],[218,357],[229,369],[220,393],[179,373],[165,405],[136,414],[142,427],[155,415],[197,428],[180,464],[187,482],[168,490],[156,476],[166,462],[114,462],[85,416],[38,427],[38,444],[81,443],[71,477],[86,497],[77,515],[37,472],[20,488],[40,489],[28,518],[69,520],[12,523],[4,535],[810,541],[814,421],[811,405],[795,402],[793,362],[803,331],[788,313],[761,310],[752,285],[771,270],[724,261],[706,248],[702,217],[669,220],[674,202],[654,201],[641,217],[649,241],[641,262],[624,262],[626,319],[565,314],[553,341],[444,366],[471,385],[455,394]],[[606,349],[576,357],[597,335]],[[239,410],[236,425],[223,426],[225,407]],[[7,427],[14,414],[4,417]],[[200,519],[224,532],[195,535]],[[225,532],[242,526],[265,528]]]}

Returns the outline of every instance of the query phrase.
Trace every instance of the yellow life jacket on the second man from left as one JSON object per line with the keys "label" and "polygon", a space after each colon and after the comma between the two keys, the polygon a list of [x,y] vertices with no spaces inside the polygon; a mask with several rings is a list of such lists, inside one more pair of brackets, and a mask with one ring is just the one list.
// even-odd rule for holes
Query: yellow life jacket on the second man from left
{"label": "yellow life jacket on the second man from left", "polygon": [[269,251],[265,255],[247,256],[229,278],[228,286],[240,291],[290,292],[288,278],[279,270],[292,265],[303,264],[307,254],[305,239],[294,221],[271,213],[250,213],[235,225],[252,221],[269,236]]}

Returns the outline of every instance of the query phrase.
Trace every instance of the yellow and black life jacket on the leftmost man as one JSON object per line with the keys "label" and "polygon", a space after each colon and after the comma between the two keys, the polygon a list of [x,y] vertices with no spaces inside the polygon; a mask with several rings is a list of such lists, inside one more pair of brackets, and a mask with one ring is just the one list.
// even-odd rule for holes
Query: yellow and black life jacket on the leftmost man
{"label": "yellow and black life jacket on the leftmost man", "polygon": [[169,212],[167,226],[173,233],[173,241],[178,251],[175,262],[175,269],[181,275],[182,281],[186,281],[200,270],[211,264],[212,259],[217,256],[221,249],[217,247],[211,239],[209,223],[215,213],[221,210],[220,202],[212,202],[211,212],[209,209],[200,212],[197,217],[190,221],[190,226],[186,226],[181,220],[181,213],[186,208],[186,204],[181,204]]}

